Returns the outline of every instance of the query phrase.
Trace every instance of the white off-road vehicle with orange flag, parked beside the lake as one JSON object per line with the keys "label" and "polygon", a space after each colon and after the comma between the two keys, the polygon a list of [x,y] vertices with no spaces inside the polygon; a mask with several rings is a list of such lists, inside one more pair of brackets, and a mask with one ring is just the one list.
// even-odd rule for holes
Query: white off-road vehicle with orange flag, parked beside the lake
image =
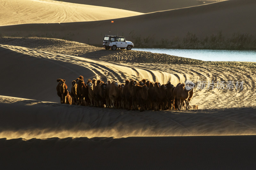
{"label": "white off-road vehicle with orange flag, parked beside the lake", "polygon": [[131,41],[125,41],[124,37],[118,35],[106,34],[103,39],[103,46],[105,49],[116,50],[117,48],[131,50],[134,46]]}

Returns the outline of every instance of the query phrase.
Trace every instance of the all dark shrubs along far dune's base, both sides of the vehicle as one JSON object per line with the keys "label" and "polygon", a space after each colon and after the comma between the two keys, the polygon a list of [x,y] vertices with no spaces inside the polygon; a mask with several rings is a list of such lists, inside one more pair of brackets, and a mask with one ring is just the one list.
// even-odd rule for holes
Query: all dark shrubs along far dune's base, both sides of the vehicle
{"label": "all dark shrubs along far dune's base, both sides of the vehicle", "polygon": [[[0,37],[44,37],[44,38],[57,38],[69,41],[76,41],[76,33],[66,33],[59,35],[56,32],[31,32],[31,33],[0,33]],[[102,33],[101,33],[102,34]],[[256,35],[249,35],[247,33],[233,33],[232,36],[227,37],[218,32],[206,37],[199,37],[194,33],[188,32],[185,37],[172,36],[171,39],[162,38],[156,39],[156,35],[142,37],[131,31],[129,35],[122,33],[128,41],[132,41],[135,48],[177,48],[177,49],[256,49]],[[100,42],[100,41],[99,41]],[[84,37],[84,42],[90,45],[101,47],[102,44],[92,44],[89,37]]]}

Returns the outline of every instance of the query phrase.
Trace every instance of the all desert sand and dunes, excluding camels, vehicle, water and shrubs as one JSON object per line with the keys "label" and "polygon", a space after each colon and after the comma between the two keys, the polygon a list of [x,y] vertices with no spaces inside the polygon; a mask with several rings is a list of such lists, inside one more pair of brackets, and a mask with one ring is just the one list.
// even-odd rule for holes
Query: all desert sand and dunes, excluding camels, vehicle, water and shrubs
{"label": "all desert sand and dunes, excluding camels, vehicle, water and shrubs", "polygon": [[[0,19],[0,169],[256,168],[256,63],[205,62],[89,45],[101,43],[108,33],[113,18],[99,15],[108,10],[124,11],[112,31],[119,29],[132,41],[148,35],[182,37],[188,31],[201,36],[220,30],[224,36],[237,31],[255,34],[255,22],[250,22],[254,1],[205,1],[195,6],[203,2],[184,0],[175,7],[182,9],[168,11],[163,11],[163,1],[156,6],[161,12],[153,7],[143,11],[134,3],[123,8],[134,10],[126,11],[120,9],[124,2],[110,9],[107,4],[97,6],[103,0],[66,1],[1,1],[2,9],[18,12],[5,11]],[[32,9],[41,7],[42,14]],[[198,110],[139,112],[60,104],[56,79],[66,79],[70,90],[80,75],[119,83],[146,78],[175,86],[187,79],[244,83],[243,89],[196,88],[190,104]]]}

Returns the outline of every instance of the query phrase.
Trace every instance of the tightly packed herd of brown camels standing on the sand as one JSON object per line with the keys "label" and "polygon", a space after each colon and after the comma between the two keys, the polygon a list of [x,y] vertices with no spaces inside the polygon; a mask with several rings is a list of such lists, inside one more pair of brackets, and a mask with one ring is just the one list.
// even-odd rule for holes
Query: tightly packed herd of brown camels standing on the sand
{"label": "tightly packed herd of brown camels standing on the sand", "polygon": [[[71,91],[65,79],[57,79],[57,94],[60,103],[123,108],[128,110],[181,110],[190,109],[189,102],[194,94],[194,88],[189,88],[184,83],[174,87],[171,82],[161,85],[159,82],[125,80],[125,83],[117,81],[103,82],[101,80],[88,79],[79,76],[72,81]],[[185,88],[186,87],[186,88]],[[198,106],[194,105],[193,108]]]}

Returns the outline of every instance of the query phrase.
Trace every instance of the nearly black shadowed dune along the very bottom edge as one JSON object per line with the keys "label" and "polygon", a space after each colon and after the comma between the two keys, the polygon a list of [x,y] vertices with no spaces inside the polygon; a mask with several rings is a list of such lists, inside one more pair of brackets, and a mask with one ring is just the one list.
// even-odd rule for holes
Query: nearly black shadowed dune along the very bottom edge
{"label": "nearly black shadowed dune along the very bottom edge", "polygon": [[4,169],[255,169],[255,140],[255,136],[0,139],[0,159]]}

